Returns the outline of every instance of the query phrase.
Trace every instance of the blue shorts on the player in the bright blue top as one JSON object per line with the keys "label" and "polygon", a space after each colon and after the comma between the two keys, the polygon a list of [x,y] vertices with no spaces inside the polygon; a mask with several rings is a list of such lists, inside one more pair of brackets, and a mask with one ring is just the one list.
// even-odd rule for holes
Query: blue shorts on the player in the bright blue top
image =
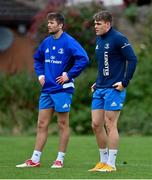
{"label": "blue shorts on the player in the bright blue top", "polygon": [[72,103],[72,94],[60,92],[56,94],[41,93],[39,110],[54,109],[56,112],[69,112]]}

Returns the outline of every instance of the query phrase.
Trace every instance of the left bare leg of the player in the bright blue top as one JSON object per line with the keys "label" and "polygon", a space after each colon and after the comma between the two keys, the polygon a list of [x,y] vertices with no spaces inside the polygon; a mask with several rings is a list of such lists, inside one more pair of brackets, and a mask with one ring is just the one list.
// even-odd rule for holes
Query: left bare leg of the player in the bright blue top
{"label": "left bare leg of the player in the bright blue top", "polygon": [[39,111],[37,136],[35,143],[35,150],[42,152],[43,147],[47,141],[48,126],[53,116],[53,109],[43,109]]}

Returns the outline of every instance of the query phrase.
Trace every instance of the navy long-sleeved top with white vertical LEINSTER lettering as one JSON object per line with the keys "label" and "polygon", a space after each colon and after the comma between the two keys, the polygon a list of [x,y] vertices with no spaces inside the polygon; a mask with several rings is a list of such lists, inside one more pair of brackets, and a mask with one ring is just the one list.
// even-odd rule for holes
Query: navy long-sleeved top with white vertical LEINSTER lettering
{"label": "navy long-sleeved top with white vertical LEINSTER lettering", "polygon": [[116,82],[122,82],[127,87],[135,71],[137,58],[123,34],[111,28],[104,35],[97,36],[96,58],[96,88],[111,88]]}

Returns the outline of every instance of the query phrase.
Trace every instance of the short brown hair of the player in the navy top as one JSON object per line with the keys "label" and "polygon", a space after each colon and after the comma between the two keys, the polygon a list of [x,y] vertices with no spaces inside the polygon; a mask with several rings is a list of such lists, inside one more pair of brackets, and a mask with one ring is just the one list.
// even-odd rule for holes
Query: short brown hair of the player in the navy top
{"label": "short brown hair of the player in the navy top", "polygon": [[93,16],[95,21],[110,22],[112,24],[112,14],[109,11],[100,11]]}

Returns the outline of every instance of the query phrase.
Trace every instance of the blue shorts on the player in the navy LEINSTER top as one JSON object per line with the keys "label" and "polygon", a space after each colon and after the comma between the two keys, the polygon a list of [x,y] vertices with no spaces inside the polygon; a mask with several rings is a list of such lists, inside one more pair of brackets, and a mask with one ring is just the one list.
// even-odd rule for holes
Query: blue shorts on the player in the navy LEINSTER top
{"label": "blue shorts on the player in the navy LEINSTER top", "polygon": [[118,91],[114,88],[101,88],[93,93],[92,110],[104,109],[109,111],[121,110],[126,97],[126,90]]}

